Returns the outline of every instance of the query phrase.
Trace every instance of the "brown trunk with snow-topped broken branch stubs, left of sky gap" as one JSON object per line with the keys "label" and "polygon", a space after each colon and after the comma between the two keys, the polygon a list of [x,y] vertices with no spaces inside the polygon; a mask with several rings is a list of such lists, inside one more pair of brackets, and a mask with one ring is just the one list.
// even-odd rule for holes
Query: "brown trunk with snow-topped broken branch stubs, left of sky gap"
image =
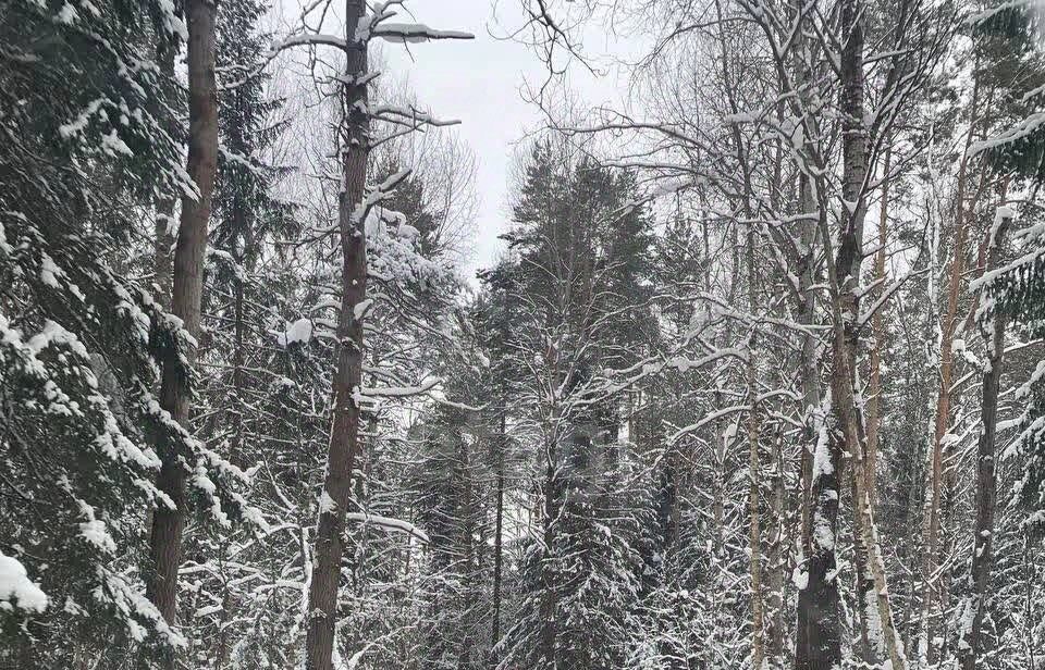
{"label": "brown trunk with snow-topped broken branch stubs, left of sky gap", "polygon": [[308,590],[308,634],[305,642],[308,670],[331,670],[341,559],[344,551],[345,513],[352,496],[352,473],[361,452],[360,408],[354,389],[362,384],[362,314],[356,313],[367,295],[366,221],[358,211],[367,181],[370,150],[367,101],[367,47],[356,42],[364,0],[346,0],[345,36],[353,48],[346,51],[342,137],[342,190],[337,207],[341,228],[342,288],[337,314],[337,368],[334,372],[333,421],[327,451],[323,492],[333,505],[321,507],[316,531],[315,569]]}

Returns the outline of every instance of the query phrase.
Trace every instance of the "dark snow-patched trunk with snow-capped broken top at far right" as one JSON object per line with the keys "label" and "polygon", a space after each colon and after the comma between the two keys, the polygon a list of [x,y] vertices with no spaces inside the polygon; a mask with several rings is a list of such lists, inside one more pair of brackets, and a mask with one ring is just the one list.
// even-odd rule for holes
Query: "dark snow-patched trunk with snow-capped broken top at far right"
{"label": "dark snow-patched trunk with snow-capped broken top at far right", "polygon": [[[1001,243],[1008,219],[998,214],[987,243],[987,268],[994,269],[1001,260]],[[986,289],[984,289],[986,291]],[[988,298],[981,298],[981,306]],[[987,330],[989,328],[989,330]],[[958,645],[958,659],[962,670],[975,670],[983,652],[983,618],[991,587],[991,570],[994,567],[994,512],[997,505],[997,472],[995,463],[995,434],[998,422],[998,387],[1001,381],[1003,353],[1005,349],[1005,315],[993,315],[989,326],[983,331],[987,345],[987,361],[983,370],[980,437],[976,442],[976,524],[973,531],[972,595],[969,607],[972,618],[960,631],[962,644]]]}

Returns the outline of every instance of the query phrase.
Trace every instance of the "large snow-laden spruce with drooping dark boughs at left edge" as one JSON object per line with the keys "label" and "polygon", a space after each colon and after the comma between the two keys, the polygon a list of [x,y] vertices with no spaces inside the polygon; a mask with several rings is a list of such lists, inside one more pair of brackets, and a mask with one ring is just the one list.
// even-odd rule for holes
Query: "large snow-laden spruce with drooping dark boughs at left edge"
{"label": "large snow-laden spruce with drooping dark boughs at left edge", "polygon": [[155,396],[183,335],[127,252],[138,208],[193,193],[149,44],[184,37],[161,1],[0,17],[0,538],[47,598],[3,594],[3,663],[111,666],[127,641],[184,642],[136,564],[145,512],[167,501],[153,446],[184,439]]}

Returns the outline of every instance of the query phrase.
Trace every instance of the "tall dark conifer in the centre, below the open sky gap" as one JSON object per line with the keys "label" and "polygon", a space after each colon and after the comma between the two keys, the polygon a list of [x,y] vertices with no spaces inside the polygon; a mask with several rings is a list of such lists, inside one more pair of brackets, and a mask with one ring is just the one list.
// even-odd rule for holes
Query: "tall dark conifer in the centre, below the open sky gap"
{"label": "tall dark conifer in the centre, below the open sky gap", "polygon": [[[617,477],[620,398],[597,389],[649,346],[641,305],[649,220],[628,173],[570,161],[539,142],[505,235],[512,255],[485,275],[512,314],[519,420],[534,430],[540,531],[527,543],[516,623],[501,667],[618,667],[638,629],[637,510],[623,510]],[[618,507],[619,506],[619,507]]]}

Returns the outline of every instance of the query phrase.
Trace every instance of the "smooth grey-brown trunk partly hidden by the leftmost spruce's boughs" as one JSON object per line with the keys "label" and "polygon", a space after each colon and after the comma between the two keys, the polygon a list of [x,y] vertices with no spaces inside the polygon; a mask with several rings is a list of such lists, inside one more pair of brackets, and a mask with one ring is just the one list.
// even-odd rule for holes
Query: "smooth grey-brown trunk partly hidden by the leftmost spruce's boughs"
{"label": "smooth grey-brown trunk partly hidden by the leftmost spruce's boughs", "polygon": [[[199,335],[207,225],[218,170],[218,89],[214,80],[217,5],[206,0],[188,0],[185,15],[188,21],[188,175],[199,193],[198,198],[182,199],[182,218],[174,250],[171,311],[196,337]],[[189,348],[186,358],[189,364],[195,361],[195,348]],[[174,361],[165,362],[160,406],[186,429],[189,400],[189,390],[180,367]],[[152,514],[152,575],[148,596],[163,619],[172,625],[177,622],[177,569],[185,528],[186,474],[184,455],[169,445],[157,485],[170,496],[174,508],[160,505]]]}

